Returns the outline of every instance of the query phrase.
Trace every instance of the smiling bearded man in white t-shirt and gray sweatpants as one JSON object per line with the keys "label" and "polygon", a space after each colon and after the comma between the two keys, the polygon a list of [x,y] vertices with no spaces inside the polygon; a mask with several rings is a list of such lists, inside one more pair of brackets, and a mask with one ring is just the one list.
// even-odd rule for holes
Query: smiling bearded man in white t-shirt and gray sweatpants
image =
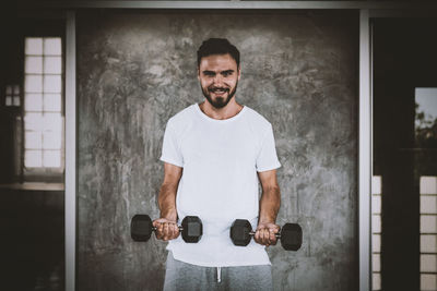
{"label": "smiling bearded man in white t-shirt and gray sweatpants", "polygon": [[[169,241],[164,290],[271,290],[264,248],[276,243],[281,201],[272,125],[236,101],[239,51],[227,39],[203,41],[198,78],[206,100],[170,118],[164,134],[161,218],[153,221],[156,238]],[[186,216],[203,222],[198,243],[179,237]],[[247,246],[231,241],[235,219],[256,229]]]}

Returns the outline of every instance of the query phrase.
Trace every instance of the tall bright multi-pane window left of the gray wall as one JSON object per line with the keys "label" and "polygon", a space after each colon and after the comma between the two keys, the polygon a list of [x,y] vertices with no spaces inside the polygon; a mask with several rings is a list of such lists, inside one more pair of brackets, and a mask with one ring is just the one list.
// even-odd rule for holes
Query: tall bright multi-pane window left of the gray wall
{"label": "tall bright multi-pane window left of the gray wall", "polygon": [[63,170],[62,41],[60,37],[25,37],[24,170]]}

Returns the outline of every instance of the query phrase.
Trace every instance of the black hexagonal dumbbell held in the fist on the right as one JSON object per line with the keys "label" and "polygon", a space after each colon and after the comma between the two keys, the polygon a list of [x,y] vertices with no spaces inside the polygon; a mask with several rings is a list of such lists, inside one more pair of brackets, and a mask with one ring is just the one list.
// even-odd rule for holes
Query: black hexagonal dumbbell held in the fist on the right
{"label": "black hexagonal dumbbell held in the fist on the right", "polygon": [[[231,240],[235,245],[246,246],[255,235],[249,220],[236,219],[231,227]],[[286,251],[297,251],[302,245],[302,228],[296,223],[285,223],[280,233],[275,233],[281,239],[281,245]]]}

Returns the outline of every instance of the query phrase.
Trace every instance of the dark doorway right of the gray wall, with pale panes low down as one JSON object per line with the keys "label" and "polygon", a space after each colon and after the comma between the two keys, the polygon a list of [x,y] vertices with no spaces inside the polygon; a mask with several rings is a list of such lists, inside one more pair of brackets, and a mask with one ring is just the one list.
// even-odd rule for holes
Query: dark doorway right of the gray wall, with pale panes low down
{"label": "dark doorway right of the gray wall, with pale panes low down", "polygon": [[437,290],[436,31],[373,21],[373,290]]}

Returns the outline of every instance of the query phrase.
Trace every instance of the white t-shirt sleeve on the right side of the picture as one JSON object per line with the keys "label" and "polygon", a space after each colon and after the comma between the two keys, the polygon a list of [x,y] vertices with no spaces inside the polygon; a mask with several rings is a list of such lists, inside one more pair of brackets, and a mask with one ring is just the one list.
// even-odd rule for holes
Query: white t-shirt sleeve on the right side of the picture
{"label": "white t-shirt sleeve on the right side of the picture", "polygon": [[262,140],[261,149],[257,157],[257,171],[264,172],[281,167],[274,144],[273,129],[270,124]]}

